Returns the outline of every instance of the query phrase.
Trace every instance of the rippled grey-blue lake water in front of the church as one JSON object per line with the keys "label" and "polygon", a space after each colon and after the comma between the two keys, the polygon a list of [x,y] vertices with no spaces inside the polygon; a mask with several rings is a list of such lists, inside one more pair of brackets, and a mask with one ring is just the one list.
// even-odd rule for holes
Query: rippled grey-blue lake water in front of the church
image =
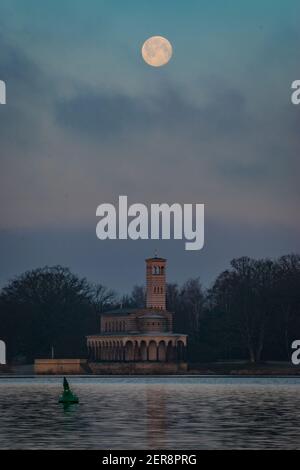
{"label": "rippled grey-blue lake water in front of the church", "polygon": [[300,378],[0,378],[1,449],[300,449]]}

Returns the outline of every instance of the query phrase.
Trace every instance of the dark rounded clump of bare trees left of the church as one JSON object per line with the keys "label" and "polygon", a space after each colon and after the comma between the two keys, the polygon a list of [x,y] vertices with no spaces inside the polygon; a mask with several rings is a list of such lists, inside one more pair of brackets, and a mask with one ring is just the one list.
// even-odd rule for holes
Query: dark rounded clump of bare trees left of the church
{"label": "dark rounded clump of bare trees left of the church", "polygon": [[68,268],[44,267],[12,280],[0,293],[0,337],[10,361],[85,357],[85,335],[99,331],[99,315],[116,294]]}

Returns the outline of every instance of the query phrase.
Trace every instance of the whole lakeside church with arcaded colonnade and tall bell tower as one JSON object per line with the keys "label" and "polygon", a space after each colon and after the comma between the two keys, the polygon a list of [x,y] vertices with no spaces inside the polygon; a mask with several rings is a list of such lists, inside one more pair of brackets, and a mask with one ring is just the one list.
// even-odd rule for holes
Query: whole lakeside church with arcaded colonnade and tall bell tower
{"label": "whole lakeside church with arcaded colonnade and tall bell tower", "polygon": [[100,333],[87,336],[94,373],[176,373],[187,370],[187,335],[173,332],[166,308],[166,259],[146,259],[146,305],[101,314]]}

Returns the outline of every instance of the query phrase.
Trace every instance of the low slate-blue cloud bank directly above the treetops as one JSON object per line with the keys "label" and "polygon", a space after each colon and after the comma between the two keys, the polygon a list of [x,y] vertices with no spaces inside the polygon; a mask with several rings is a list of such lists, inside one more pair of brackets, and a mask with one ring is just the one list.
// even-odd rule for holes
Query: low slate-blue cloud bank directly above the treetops
{"label": "low slate-blue cloud bank directly above the treetops", "polygon": [[182,240],[100,241],[94,230],[0,231],[0,287],[28,269],[61,264],[120,293],[145,283],[144,259],[155,250],[168,259],[168,281],[200,276],[208,287],[239,256],[277,257],[299,251],[299,235],[280,225],[232,224],[206,219],[202,251],[187,252]]}

